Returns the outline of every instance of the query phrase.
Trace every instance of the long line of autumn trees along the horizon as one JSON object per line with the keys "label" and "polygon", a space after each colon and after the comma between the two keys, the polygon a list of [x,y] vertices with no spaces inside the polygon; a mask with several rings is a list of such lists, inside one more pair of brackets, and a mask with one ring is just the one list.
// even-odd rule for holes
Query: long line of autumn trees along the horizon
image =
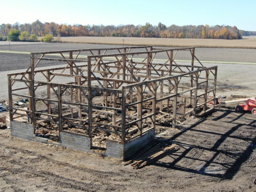
{"label": "long line of autumn trees along the horizon", "polygon": [[[240,39],[242,36],[256,35],[256,31],[239,30],[236,26],[209,25],[171,25],[161,22],[158,25],[66,25],[54,22],[2,24],[0,40],[34,41],[37,36],[117,36],[117,37],[157,37],[157,38],[202,38],[202,39]],[[41,39],[44,41],[44,39]]]}

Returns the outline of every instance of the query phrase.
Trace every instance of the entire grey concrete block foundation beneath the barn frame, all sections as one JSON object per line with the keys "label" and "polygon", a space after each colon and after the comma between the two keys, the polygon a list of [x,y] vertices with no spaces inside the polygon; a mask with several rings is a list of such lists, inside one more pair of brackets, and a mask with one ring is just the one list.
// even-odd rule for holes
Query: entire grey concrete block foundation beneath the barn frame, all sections
{"label": "entire grey concrete block foundation beneath the barn frame, all sections", "polygon": [[[11,121],[11,136],[29,141],[38,141],[46,144],[54,144],[63,147],[73,148],[85,152],[91,152],[92,138],[85,134],[61,131],[59,143],[52,140],[36,137],[34,126],[28,123]],[[142,134],[133,140],[121,144],[118,141],[106,140],[107,152],[106,156],[127,159],[138,152],[141,148],[147,146],[155,138],[154,129]]]}

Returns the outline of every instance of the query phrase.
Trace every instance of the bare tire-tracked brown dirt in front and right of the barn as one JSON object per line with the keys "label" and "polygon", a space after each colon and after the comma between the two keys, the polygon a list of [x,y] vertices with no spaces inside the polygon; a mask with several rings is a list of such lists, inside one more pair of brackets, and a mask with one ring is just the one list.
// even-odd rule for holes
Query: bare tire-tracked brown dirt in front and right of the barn
{"label": "bare tire-tracked brown dirt in front and right of the barn", "polygon": [[169,128],[180,150],[139,170],[0,130],[0,191],[256,191],[256,118],[233,108]]}

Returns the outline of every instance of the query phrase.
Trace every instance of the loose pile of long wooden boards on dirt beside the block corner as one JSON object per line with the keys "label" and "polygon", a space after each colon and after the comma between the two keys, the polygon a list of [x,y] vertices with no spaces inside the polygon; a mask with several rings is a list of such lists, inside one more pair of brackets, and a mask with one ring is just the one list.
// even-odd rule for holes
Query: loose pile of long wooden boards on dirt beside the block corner
{"label": "loose pile of long wooden boards on dirt beside the block corner", "polygon": [[178,150],[179,148],[177,148],[175,144],[166,147],[163,147],[163,144],[161,143],[158,143],[155,146],[154,144],[151,144],[135,154],[135,156],[132,157],[132,160],[124,162],[123,165],[131,164],[134,169],[139,169]]}

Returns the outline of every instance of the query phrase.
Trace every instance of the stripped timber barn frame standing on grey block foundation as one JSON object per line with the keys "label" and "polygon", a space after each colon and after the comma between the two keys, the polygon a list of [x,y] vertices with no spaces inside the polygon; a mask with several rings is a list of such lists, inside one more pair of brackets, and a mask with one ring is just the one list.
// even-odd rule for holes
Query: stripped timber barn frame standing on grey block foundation
{"label": "stripped timber barn frame standing on grey block foundation", "polygon": [[[179,54],[189,60],[176,59]],[[204,67],[195,47],[131,46],[30,57],[25,72],[8,74],[11,133],[21,139],[52,143],[36,135],[40,122],[51,122],[59,133],[54,144],[90,152],[94,133],[104,132],[116,138],[106,139],[105,154],[125,159],[154,140],[158,114],[172,117],[175,128],[177,116],[214,109],[217,66]],[[41,69],[56,64],[62,66]],[[14,107],[13,97],[28,98],[29,108]],[[19,121],[21,116],[27,120]]]}

